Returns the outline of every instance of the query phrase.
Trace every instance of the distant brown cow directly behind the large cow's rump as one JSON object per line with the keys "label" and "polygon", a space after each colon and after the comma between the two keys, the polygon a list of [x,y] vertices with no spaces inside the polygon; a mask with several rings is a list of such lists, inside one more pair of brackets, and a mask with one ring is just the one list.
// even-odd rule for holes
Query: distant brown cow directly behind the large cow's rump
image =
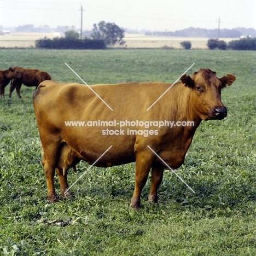
{"label": "distant brown cow directly behind the large cow's rump", "polygon": [[22,68],[22,67],[9,67],[9,69],[13,73],[19,73],[19,77],[16,76],[13,79],[13,82],[10,86],[10,92],[9,92],[9,98],[11,97],[11,94],[13,90],[16,88],[16,92],[20,96],[20,88],[22,84],[25,84],[26,86],[37,86],[43,82],[44,80],[50,80],[50,75],[45,71],[40,71],[38,69],[30,69],[30,68]]}

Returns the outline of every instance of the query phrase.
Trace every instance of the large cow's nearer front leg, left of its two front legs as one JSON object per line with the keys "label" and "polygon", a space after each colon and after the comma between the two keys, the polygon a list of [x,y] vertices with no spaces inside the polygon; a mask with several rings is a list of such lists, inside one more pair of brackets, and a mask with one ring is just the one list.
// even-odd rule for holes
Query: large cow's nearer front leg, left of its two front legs
{"label": "large cow's nearer front leg, left of its two front legs", "polygon": [[152,165],[151,152],[137,153],[135,169],[135,189],[131,199],[131,207],[135,210],[141,208],[141,191],[147,182],[148,173]]}

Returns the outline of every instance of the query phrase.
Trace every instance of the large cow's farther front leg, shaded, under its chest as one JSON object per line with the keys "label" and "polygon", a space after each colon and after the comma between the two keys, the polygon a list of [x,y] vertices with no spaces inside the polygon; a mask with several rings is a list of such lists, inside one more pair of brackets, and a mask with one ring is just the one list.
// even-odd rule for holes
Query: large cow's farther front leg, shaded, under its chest
{"label": "large cow's farther front leg, shaded, under its chest", "polygon": [[152,202],[152,203],[158,202],[158,188],[162,182],[163,174],[164,174],[164,169],[152,167],[151,188],[148,195],[149,202]]}

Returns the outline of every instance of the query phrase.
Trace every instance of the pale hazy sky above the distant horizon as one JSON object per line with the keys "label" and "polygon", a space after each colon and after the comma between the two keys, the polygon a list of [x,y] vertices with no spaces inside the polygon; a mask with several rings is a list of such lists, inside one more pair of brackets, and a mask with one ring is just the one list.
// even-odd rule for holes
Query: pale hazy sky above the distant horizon
{"label": "pale hazy sky above the distant horizon", "polygon": [[176,31],[188,27],[256,29],[255,0],[0,0],[0,25],[75,26],[91,30],[100,21],[122,28]]}

